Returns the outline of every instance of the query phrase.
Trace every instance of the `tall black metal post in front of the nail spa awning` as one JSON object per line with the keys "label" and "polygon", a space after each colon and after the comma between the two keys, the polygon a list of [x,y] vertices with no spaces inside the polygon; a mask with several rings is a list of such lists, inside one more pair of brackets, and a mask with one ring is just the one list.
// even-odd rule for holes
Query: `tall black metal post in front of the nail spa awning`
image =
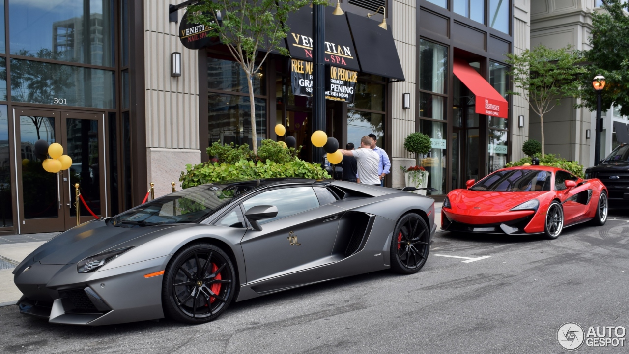
{"label": "tall black metal post in front of the nail spa awning", "polygon": [[[313,5],[312,131],[325,131],[325,6]],[[323,148],[313,145],[313,162],[323,163]]]}

